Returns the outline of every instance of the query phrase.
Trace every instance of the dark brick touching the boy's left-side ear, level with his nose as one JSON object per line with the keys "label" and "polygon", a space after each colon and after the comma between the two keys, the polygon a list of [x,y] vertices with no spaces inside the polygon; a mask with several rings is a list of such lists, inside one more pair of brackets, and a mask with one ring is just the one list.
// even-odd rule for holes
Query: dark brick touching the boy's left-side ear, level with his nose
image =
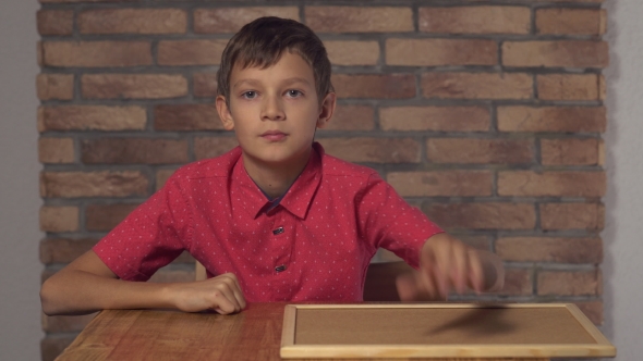
{"label": "dark brick touching the boy's left-side ear, level with his nose", "polygon": [[157,105],[154,108],[156,130],[223,129],[215,104]]}

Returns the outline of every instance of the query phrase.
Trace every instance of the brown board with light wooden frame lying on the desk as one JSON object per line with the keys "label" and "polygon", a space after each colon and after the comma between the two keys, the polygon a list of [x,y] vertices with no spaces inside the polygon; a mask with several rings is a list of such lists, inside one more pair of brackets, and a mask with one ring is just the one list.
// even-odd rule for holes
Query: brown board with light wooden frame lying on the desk
{"label": "brown board with light wooden frame lying on the desk", "polygon": [[291,304],[282,358],[614,357],[574,306],[561,303]]}

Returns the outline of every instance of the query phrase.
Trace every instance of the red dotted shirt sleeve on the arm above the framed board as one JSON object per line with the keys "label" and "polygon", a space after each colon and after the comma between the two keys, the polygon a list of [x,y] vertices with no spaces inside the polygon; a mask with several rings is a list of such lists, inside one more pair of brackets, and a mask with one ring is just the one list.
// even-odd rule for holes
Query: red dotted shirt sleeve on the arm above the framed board
{"label": "red dotted shirt sleeve on the arm above the framed board", "polygon": [[391,185],[374,173],[357,202],[362,234],[376,248],[385,248],[411,266],[420,266],[424,242],[444,231],[415,207],[411,207]]}

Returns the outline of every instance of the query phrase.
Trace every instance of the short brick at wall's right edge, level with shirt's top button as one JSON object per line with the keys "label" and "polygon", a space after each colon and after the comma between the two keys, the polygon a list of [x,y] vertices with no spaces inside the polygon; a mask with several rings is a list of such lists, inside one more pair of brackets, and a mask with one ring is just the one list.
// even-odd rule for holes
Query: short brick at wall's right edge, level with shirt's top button
{"label": "short brick at wall's right edge, level with shirt's top button", "polygon": [[600,203],[544,203],[539,208],[545,231],[600,231],[605,226],[605,207]]}

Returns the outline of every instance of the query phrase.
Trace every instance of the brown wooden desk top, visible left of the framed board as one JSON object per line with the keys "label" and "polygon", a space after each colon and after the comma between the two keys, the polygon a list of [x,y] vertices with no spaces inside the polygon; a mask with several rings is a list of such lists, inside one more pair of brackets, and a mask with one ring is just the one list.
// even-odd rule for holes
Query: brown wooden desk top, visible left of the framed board
{"label": "brown wooden desk top, visible left of the framed board", "polygon": [[252,303],[234,315],[107,310],[57,360],[280,360],[286,304]]}

